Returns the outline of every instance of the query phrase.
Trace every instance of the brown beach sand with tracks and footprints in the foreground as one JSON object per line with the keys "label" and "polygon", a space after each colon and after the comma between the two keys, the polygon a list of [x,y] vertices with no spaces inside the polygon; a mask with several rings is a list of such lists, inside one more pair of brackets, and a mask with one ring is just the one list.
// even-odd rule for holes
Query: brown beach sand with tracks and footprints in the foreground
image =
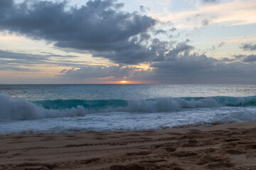
{"label": "brown beach sand with tracks and footprints in the foreground", "polygon": [[0,169],[256,169],[256,121],[163,130],[0,135]]}

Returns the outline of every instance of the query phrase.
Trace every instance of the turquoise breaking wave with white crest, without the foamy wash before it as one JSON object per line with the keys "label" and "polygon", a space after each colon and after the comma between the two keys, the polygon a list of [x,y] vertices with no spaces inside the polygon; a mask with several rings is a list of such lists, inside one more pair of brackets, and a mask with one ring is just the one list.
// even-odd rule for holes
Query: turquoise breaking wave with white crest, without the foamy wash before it
{"label": "turquoise breaking wave with white crest, without the foamy wash before it", "polygon": [[26,101],[23,98],[11,98],[8,94],[0,94],[0,121],[84,116],[87,113],[119,111],[130,113],[173,112],[183,108],[216,108],[222,106],[256,106],[256,96]]}

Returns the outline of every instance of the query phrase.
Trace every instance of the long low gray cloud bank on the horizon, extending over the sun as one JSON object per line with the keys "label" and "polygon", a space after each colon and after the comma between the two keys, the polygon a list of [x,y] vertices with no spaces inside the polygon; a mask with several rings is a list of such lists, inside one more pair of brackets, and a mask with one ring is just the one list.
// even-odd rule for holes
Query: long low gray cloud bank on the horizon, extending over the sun
{"label": "long low gray cloud bank on the horizon, extending over the sun", "polygon": [[[227,63],[228,62],[228,63]],[[152,69],[142,70],[122,66],[87,66],[63,71],[60,77],[68,79],[109,78],[128,81],[149,81],[169,84],[255,84],[254,63],[243,63],[235,59],[217,60],[206,55],[188,52],[176,55],[171,60],[152,62]]]}

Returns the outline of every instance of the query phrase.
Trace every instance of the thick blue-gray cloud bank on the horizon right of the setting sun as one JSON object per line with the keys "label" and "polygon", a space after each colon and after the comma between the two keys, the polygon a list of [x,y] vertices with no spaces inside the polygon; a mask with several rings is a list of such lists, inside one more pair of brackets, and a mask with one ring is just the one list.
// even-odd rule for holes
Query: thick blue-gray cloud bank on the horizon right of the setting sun
{"label": "thick blue-gray cloud bank on the horizon right of the setting sun", "polygon": [[206,55],[179,55],[175,60],[154,62],[151,71],[137,80],[150,79],[171,84],[255,84],[255,64],[217,60]]}

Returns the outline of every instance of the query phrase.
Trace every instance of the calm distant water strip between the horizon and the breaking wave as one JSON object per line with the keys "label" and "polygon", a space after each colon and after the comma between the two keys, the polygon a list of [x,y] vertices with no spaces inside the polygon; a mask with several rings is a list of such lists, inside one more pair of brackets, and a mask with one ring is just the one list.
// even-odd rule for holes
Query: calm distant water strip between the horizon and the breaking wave
{"label": "calm distant water strip between the horizon and the breaking wave", "polygon": [[26,100],[146,99],[161,97],[255,96],[255,85],[230,84],[75,84],[0,85],[0,92]]}

